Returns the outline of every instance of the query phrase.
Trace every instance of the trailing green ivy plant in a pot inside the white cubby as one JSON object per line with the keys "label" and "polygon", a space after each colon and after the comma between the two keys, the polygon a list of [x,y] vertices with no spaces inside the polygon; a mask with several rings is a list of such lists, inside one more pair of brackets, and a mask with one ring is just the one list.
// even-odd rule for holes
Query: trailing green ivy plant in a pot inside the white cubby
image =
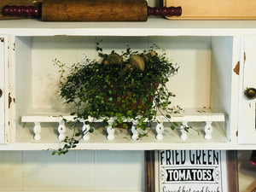
{"label": "trailing green ivy plant in a pot inside the white cubby", "polygon": [[[61,73],[59,93],[67,103],[74,104],[71,115],[75,120],[73,136],[66,137],[64,147],[53,154],[66,154],[77,146],[84,135],[76,128],[79,119],[84,119],[85,124],[91,124],[86,120],[89,117],[103,119],[108,125],[108,119],[115,117],[113,128],[118,125],[128,128],[125,122],[133,119],[137,121],[139,137],[143,137],[158,113],[165,114],[167,119],[171,119],[170,113],[179,113],[182,108],[170,108],[175,94],[166,88],[178,67],[166,58],[165,52],[159,54],[159,49],[153,44],[139,52],[127,46],[121,54],[114,50],[106,54],[97,44],[99,61],[85,57],[84,61],[73,64],[67,75],[67,66],[55,59],[54,64],[60,67]],[[172,130],[177,128],[177,123],[170,123]]]}

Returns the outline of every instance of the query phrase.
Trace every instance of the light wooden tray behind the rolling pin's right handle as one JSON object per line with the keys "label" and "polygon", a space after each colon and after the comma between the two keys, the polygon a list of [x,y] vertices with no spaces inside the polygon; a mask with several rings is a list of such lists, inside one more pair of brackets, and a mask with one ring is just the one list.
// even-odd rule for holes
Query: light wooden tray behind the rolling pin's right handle
{"label": "light wooden tray behind the rolling pin's right handle", "polygon": [[256,0],[163,0],[163,6],[181,6],[181,16],[170,20],[255,20]]}

